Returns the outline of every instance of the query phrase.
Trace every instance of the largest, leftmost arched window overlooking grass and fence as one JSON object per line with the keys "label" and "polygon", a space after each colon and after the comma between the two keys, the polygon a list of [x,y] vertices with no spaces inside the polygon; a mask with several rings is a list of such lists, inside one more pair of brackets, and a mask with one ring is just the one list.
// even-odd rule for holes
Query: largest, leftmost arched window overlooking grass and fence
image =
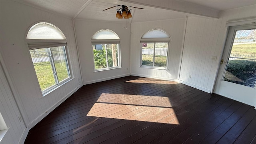
{"label": "largest, leftmost arched window overlooking grass and fence", "polygon": [[70,78],[67,41],[60,29],[48,22],[37,23],[26,41],[43,95]]}

